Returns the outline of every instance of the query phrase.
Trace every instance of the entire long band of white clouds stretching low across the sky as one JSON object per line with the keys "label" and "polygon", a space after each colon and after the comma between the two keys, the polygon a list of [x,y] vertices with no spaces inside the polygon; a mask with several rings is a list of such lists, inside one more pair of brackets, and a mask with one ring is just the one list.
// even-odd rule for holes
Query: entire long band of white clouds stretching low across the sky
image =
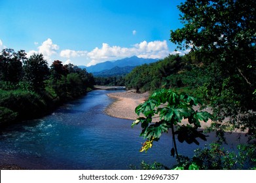
{"label": "entire long band of white clouds stretching low across the sky", "polygon": [[[3,42],[0,40],[0,48],[4,48]],[[189,50],[183,52],[170,52],[167,41],[142,41],[137,44],[131,45],[129,48],[120,46],[110,46],[103,43],[100,48],[96,47],[90,52],[86,50],[59,50],[57,44],[53,44],[51,39],[44,41],[37,50],[29,50],[27,57],[33,54],[43,54],[49,65],[52,64],[54,59],[64,60],[64,64],[73,63],[75,65],[96,65],[104,61],[112,61],[131,56],[139,58],[158,58],[162,59],[169,54],[184,55]]]}

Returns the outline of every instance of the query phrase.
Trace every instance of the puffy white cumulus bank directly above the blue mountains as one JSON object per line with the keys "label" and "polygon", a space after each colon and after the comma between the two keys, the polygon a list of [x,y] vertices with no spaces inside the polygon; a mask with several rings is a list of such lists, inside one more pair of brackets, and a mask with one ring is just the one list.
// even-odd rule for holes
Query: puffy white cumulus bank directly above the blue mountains
{"label": "puffy white cumulus bank directly above the blue mountains", "polygon": [[107,60],[126,58],[129,56],[138,56],[139,58],[164,58],[170,54],[166,41],[143,41],[132,45],[131,48],[122,48],[120,46],[109,46],[103,43],[101,48],[94,48],[88,52],[90,63],[87,66],[95,65]]}

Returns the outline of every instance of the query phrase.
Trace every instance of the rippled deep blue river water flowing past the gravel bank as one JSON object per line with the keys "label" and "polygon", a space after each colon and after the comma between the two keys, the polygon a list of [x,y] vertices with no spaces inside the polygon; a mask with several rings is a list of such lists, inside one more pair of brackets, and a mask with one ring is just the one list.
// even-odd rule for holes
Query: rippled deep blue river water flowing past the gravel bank
{"label": "rippled deep blue river water flowing past the gravel bank", "polygon": [[[130,169],[141,161],[155,161],[172,167],[172,141],[166,133],[147,153],[139,152],[145,140],[140,126],[132,120],[113,118],[104,109],[113,102],[107,93],[95,90],[58,108],[38,120],[22,122],[0,132],[0,164],[15,163],[27,169]],[[179,143],[179,153],[192,156],[194,149],[214,140],[196,144]],[[227,135],[232,148],[239,142]]]}

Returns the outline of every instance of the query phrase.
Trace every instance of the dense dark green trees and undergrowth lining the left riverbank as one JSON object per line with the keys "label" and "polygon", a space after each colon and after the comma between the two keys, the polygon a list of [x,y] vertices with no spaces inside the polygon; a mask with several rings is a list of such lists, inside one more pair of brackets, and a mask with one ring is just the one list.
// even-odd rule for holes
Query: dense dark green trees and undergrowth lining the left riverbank
{"label": "dense dark green trees and undergrowth lining the left riverbank", "polygon": [[0,54],[0,124],[37,118],[91,90],[85,69],[56,60],[48,67],[42,54],[4,49]]}

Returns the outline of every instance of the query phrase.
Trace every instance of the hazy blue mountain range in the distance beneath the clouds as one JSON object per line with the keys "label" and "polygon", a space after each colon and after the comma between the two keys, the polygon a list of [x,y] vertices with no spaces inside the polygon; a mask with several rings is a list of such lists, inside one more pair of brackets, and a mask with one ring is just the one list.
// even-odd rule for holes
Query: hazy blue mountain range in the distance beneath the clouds
{"label": "hazy blue mountain range in the distance beneath the clouds", "polygon": [[155,61],[158,61],[158,59],[132,56],[131,58],[118,59],[115,61],[105,61],[90,67],[84,65],[79,65],[79,67],[86,69],[88,73],[92,73],[94,76],[113,76],[130,73],[130,71],[138,65],[143,65],[145,63],[149,64]]}

